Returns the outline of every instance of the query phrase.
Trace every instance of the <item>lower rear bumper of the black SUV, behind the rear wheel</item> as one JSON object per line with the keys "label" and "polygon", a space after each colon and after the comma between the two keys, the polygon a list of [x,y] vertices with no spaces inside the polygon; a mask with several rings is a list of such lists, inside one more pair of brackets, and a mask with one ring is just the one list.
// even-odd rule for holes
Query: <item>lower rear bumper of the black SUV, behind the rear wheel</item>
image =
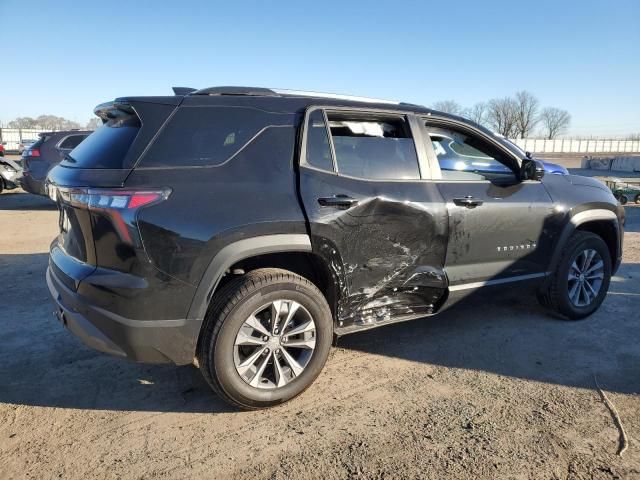
{"label": "lower rear bumper of the black SUV, behind the rear wheel", "polygon": [[90,305],[47,268],[56,317],[82,342],[101,352],[143,363],[193,362],[201,321],[132,320]]}

